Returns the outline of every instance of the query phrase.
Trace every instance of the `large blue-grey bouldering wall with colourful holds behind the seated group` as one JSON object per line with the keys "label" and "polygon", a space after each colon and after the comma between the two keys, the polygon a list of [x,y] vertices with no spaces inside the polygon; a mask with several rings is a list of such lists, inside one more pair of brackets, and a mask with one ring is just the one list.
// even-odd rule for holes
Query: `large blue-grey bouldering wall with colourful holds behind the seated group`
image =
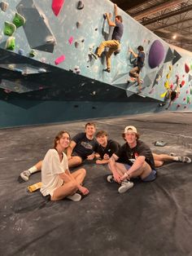
{"label": "large blue-grey bouldering wall with colourful holds behind the seated group", "polygon": [[[170,109],[191,109],[192,54],[168,45],[119,8],[121,48],[111,57],[111,73],[103,71],[105,52],[99,60],[91,53],[111,39],[103,14],[111,12],[114,19],[113,9],[107,0],[0,2],[0,126],[161,111],[165,107],[158,103],[164,103],[177,79],[181,93]],[[134,97],[138,88],[128,82],[133,68],[129,48],[137,51],[139,45],[146,61],[142,93]],[[50,115],[44,115],[42,106]],[[69,113],[55,117],[61,106],[70,106]]]}

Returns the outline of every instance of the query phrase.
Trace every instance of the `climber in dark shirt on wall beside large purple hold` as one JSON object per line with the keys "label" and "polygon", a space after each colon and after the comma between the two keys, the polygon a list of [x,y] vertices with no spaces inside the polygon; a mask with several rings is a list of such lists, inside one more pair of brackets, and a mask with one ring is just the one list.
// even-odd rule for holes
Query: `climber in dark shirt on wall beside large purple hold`
{"label": "climber in dark shirt on wall beside large purple hold", "polygon": [[133,54],[134,58],[137,58],[137,61],[134,64],[134,67],[129,71],[130,77],[136,77],[138,90],[141,92],[142,90],[142,80],[139,77],[139,73],[142,71],[145,62],[145,52],[143,46],[137,47],[138,53],[135,53],[131,48],[129,48],[129,52]]}

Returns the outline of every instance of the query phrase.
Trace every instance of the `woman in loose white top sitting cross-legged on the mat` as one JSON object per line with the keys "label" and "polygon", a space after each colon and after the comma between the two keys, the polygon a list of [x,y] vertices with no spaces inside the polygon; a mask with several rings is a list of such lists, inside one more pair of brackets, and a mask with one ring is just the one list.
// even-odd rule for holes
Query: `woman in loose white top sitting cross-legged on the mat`
{"label": "woman in loose white top sitting cross-legged on the mat", "polygon": [[72,201],[81,201],[81,192],[87,195],[89,190],[81,186],[86,171],[81,168],[72,174],[68,170],[68,158],[63,152],[68,148],[70,135],[67,131],[60,131],[55,136],[54,148],[46,152],[41,167],[41,194],[50,196],[51,201],[59,201],[67,197]]}

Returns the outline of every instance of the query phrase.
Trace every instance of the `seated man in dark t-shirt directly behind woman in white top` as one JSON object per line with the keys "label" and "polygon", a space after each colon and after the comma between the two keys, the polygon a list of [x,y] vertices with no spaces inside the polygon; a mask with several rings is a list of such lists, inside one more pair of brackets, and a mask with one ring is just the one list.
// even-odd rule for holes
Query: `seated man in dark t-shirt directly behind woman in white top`
{"label": "seated man in dark t-shirt directly behind woman in white top", "polygon": [[[85,132],[79,133],[72,138],[70,148],[65,149],[68,155],[69,168],[81,165],[85,159],[94,159],[94,149],[98,145],[94,138],[96,126],[93,122],[88,122],[85,125]],[[41,170],[42,161],[38,161],[35,166],[30,167],[20,173],[20,178],[28,181],[31,174]]]}

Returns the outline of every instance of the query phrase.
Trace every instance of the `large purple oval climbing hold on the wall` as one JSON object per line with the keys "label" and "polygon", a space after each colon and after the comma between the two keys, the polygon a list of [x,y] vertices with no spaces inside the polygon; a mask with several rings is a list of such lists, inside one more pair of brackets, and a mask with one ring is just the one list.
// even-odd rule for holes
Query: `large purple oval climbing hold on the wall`
{"label": "large purple oval climbing hold on the wall", "polygon": [[149,51],[149,65],[156,68],[164,60],[164,46],[159,40],[155,40]]}

